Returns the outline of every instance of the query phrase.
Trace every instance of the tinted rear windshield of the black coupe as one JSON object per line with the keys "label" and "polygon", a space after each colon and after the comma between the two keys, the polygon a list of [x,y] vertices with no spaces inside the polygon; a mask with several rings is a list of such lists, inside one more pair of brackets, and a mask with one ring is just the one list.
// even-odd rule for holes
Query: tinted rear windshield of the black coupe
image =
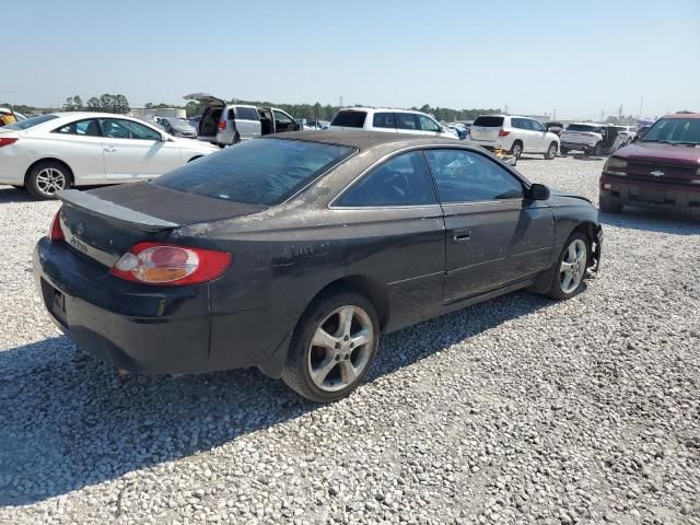
{"label": "tinted rear windshield of the black coupe", "polygon": [[185,164],[153,184],[217,199],[273,206],[355,151],[301,140],[254,139]]}

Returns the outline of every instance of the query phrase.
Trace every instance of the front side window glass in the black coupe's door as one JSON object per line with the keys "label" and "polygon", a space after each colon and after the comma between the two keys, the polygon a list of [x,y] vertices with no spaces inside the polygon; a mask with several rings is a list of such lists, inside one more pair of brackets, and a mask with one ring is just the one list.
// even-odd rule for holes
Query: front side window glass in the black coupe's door
{"label": "front side window glass in the black coupe's door", "polygon": [[522,199],[523,185],[497,163],[464,150],[427,150],[441,202]]}

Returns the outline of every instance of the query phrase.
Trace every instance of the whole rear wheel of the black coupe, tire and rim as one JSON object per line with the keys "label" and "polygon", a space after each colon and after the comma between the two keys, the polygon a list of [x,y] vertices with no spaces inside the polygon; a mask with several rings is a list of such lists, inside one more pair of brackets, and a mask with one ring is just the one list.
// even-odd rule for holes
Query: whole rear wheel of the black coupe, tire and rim
{"label": "whole rear wheel of the black coupe, tire and rim", "polygon": [[[365,342],[357,345],[361,340]],[[282,381],[312,401],[337,401],[360,384],[378,342],[378,317],[364,295],[351,291],[324,295],[310,305],[294,329]]]}

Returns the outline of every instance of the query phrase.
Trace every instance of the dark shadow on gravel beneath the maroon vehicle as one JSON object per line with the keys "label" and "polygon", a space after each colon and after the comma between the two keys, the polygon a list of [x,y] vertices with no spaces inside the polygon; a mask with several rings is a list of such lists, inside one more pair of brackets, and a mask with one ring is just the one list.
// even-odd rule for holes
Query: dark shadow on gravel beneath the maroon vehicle
{"label": "dark shadow on gravel beneath the maroon vehicle", "polygon": [[669,233],[673,235],[700,235],[700,217],[675,215],[644,208],[626,207],[622,213],[599,213],[604,225]]}

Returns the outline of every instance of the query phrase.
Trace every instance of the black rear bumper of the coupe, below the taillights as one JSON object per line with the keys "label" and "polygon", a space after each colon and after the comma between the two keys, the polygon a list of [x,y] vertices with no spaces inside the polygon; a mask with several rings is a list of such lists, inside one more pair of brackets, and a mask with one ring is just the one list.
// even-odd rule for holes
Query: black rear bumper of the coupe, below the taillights
{"label": "black rear bumper of the coupe, below the taillights", "polygon": [[46,237],[36,245],[33,264],[51,318],[89,353],[131,372],[207,370],[207,287],[132,285]]}

